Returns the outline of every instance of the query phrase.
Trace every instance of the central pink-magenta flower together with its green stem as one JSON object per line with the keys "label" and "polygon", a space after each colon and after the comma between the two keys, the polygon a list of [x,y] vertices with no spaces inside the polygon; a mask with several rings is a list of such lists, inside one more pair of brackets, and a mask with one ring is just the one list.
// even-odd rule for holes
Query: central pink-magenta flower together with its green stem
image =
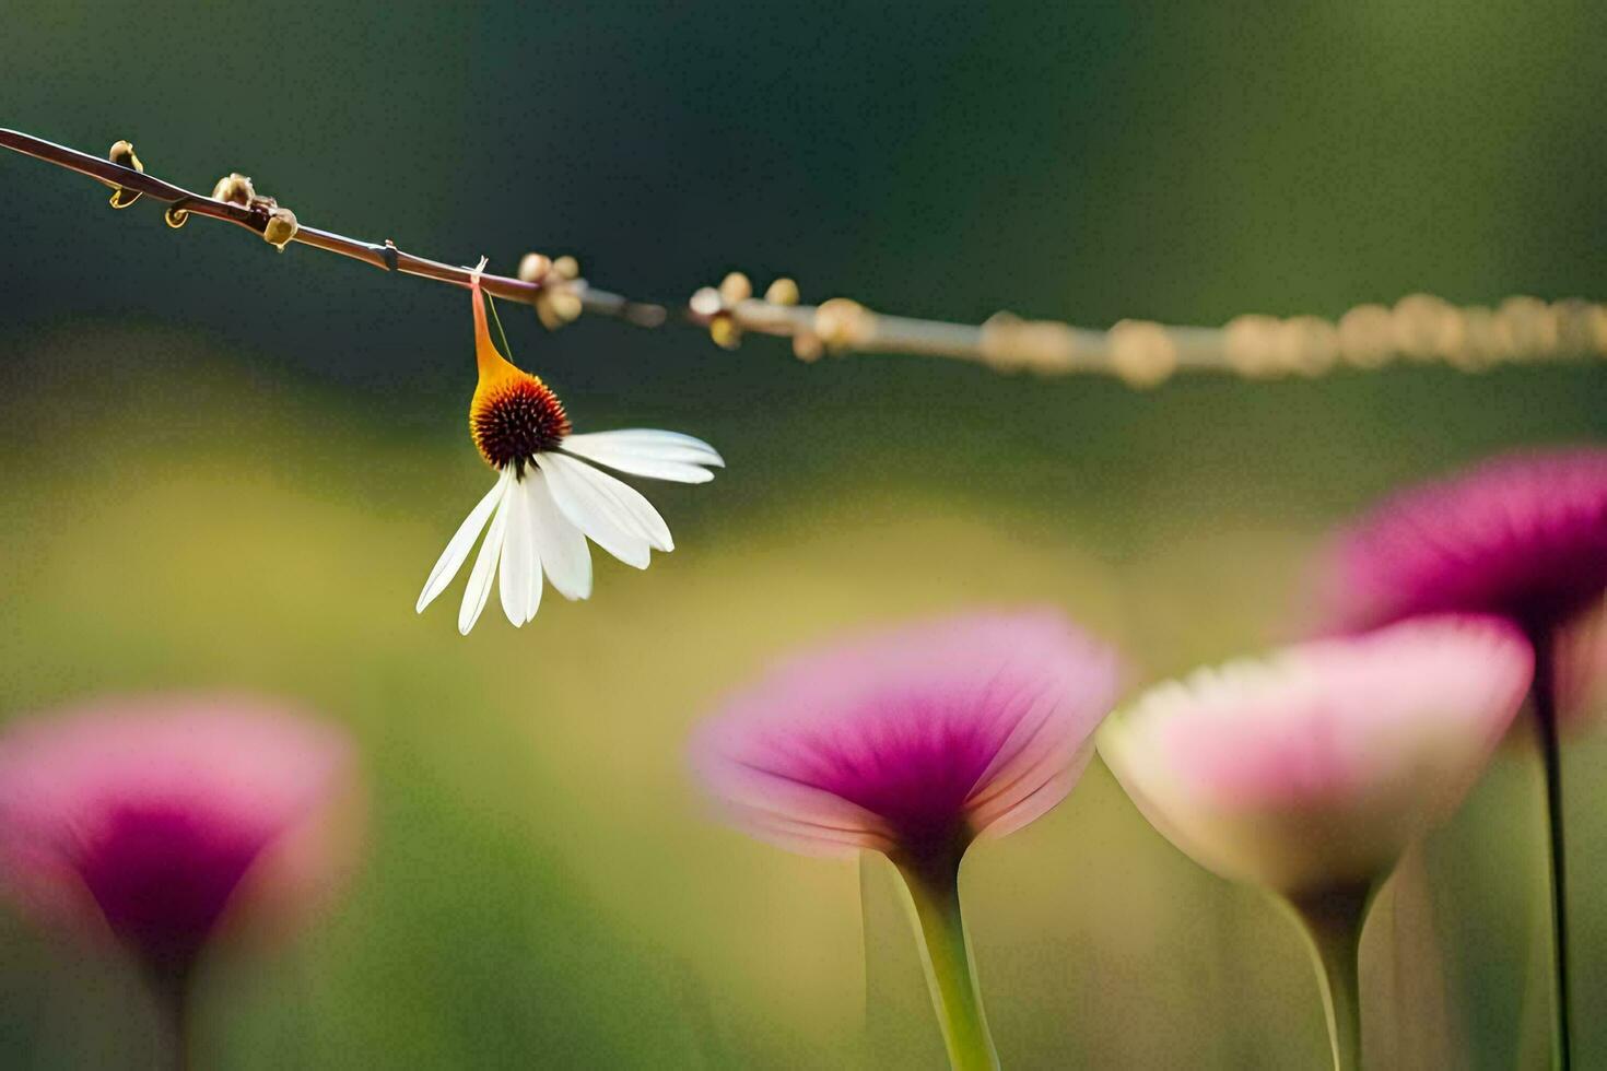
{"label": "central pink-magenta flower together with its green stem", "polygon": [[783,665],[693,742],[741,829],[810,854],[885,853],[914,902],[956,1068],[996,1066],[959,862],[1059,803],[1115,700],[1117,660],[1053,612],[855,637]]}

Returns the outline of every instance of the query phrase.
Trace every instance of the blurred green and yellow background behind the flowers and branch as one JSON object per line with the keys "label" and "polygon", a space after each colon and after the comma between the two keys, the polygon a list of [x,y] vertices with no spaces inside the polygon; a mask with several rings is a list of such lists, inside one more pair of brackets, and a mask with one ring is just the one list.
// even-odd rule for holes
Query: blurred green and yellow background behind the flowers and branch
{"label": "blurred green and yellow background behind the flowers and branch", "polygon": [[[1229,10],[1231,8],[1231,10]],[[683,300],[1109,324],[1334,316],[1427,289],[1607,297],[1607,8],[109,5],[8,0],[0,125],[444,260],[574,252]],[[763,339],[505,321],[583,429],[702,435],[680,549],[514,633],[411,613],[489,487],[461,291],[104,207],[0,157],[0,710],[251,687],[349,724],[368,865],[268,957],[217,955],[201,1066],[836,1068],[863,1058],[858,872],[709,821],[688,727],[787,645],[1053,602],[1136,682],[1310,621],[1335,522],[1488,453],[1607,435],[1607,366],[1152,393]],[[461,583],[461,581],[460,581]],[[453,593],[460,588],[453,588]],[[450,597],[448,597],[450,602]],[[1607,1066],[1607,734],[1568,755],[1580,1066]],[[1543,1066],[1538,776],[1503,753],[1368,935],[1377,1066]],[[874,875],[873,875],[874,877]],[[1252,890],[1094,764],[967,862],[1006,1066],[1323,1066]],[[913,944],[908,1066],[938,1066]],[[156,1066],[127,968],[0,915],[0,1063]]]}

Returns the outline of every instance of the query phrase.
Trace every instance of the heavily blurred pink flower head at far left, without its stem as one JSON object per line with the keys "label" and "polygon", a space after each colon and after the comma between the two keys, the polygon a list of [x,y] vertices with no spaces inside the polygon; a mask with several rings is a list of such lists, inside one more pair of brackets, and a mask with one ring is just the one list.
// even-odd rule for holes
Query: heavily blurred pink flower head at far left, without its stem
{"label": "heavily blurred pink flower head at far left, without its stem", "polygon": [[16,723],[0,734],[0,878],[53,922],[109,928],[182,988],[241,901],[283,920],[326,891],[354,777],[339,732],[238,697]]}

